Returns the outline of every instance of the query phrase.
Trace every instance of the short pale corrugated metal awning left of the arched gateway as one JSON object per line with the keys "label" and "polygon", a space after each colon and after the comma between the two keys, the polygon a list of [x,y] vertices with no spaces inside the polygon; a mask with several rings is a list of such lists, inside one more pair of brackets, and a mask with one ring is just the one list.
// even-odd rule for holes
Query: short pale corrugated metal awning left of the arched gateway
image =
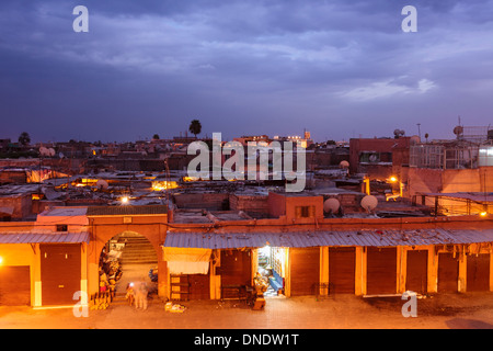
{"label": "short pale corrugated metal awning left of the arched gateway", "polygon": [[0,244],[79,244],[89,242],[89,233],[9,233],[0,234]]}

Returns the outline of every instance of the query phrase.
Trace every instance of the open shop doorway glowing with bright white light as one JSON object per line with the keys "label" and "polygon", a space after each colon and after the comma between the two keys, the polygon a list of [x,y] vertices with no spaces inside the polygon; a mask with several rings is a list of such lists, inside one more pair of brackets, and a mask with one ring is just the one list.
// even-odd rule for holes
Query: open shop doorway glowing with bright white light
{"label": "open shop doorway glowing with bright white light", "polygon": [[256,252],[256,271],[268,282],[264,297],[284,296],[288,249],[264,246]]}

